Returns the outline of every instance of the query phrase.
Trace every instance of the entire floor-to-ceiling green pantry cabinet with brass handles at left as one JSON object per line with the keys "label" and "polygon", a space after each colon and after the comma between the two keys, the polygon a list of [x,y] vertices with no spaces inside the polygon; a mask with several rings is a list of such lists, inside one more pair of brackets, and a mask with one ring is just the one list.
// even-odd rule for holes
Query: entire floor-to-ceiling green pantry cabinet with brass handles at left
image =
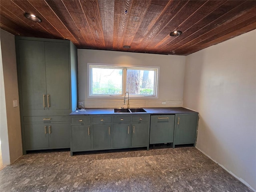
{"label": "entire floor-to-ceiling green pantry cabinet with brass handles at left", "polygon": [[23,153],[70,148],[77,48],[69,40],[16,36],[15,41]]}

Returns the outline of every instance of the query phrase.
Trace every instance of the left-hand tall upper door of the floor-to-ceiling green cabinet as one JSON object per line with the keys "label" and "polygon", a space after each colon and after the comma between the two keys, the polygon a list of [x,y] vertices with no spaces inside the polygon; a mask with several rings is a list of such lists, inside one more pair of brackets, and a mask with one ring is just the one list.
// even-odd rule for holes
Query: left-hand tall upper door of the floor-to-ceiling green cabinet
{"label": "left-hand tall upper door of the floor-to-ceiling green cabinet", "polygon": [[46,94],[44,42],[18,40],[18,47],[21,107],[23,110],[44,110],[43,95]]}

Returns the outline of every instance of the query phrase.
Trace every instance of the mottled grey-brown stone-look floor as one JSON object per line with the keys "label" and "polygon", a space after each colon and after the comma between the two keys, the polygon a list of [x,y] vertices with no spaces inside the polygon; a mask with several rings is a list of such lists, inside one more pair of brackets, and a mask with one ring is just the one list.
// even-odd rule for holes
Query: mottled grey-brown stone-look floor
{"label": "mottled grey-brown stone-look floor", "polygon": [[10,192],[252,192],[194,147],[27,154],[0,171]]}

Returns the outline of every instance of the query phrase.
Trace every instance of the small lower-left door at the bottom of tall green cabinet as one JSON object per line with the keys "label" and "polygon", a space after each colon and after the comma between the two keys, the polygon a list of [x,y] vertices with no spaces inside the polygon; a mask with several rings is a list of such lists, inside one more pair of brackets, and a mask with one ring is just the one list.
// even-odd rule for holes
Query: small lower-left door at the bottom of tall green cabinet
{"label": "small lower-left door at the bottom of tall green cabinet", "polygon": [[26,150],[36,150],[49,147],[47,124],[25,124]]}

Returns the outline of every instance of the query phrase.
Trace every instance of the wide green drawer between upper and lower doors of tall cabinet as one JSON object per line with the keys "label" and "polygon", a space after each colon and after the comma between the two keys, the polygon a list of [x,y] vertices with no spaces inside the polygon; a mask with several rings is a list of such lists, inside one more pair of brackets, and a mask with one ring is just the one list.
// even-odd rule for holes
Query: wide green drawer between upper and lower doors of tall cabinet
{"label": "wide green drawer between upper and lower doors of tall cabinet", "polygon": [[70,116],[24,116],[25,123],[28,122],[70,122]]}

